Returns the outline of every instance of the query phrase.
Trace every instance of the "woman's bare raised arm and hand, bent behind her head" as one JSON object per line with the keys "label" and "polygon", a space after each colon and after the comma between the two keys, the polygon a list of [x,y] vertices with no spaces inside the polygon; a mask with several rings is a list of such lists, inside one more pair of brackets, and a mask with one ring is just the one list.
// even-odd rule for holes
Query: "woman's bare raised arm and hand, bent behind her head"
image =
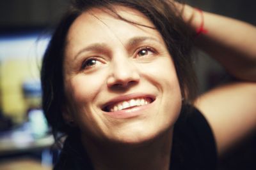
{"label": "woman's bare raised arm and hand, bent behind her head", "polygon": [[196,37],[195,45],[237,78],[195,101],[195,107],[211,125],[221,156],[256,129],[256,27],[233,18],[200,13],[188,5],[178,4],[178,8],[184,8],[184,20],[195,32],[203,15],[207,32]]}

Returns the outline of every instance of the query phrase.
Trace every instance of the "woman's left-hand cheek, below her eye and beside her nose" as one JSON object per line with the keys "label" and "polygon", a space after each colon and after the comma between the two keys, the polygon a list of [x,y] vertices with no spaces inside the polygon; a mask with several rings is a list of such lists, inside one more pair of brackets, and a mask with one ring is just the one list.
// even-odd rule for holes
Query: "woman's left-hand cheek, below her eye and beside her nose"
{"label": "woman's left-hand cheek, below her eye and beside her nose", "polygon": [[106,84],[105,74],[81,73],[66,79],[65,88],[68,101],[71,104],[69,107],[79,122],[79,126],[84,126],[84,122],[87,122],[86,125],[91,125],[90,122],[95,122],[95,119],[99,117],[95,110],[97,110],[99,94]]}

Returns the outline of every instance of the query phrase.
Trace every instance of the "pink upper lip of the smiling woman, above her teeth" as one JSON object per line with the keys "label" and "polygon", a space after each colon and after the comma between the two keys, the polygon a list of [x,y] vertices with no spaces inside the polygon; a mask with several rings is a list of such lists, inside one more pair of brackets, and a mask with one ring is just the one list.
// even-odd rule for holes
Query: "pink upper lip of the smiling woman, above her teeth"
{"label": "pink upper lip of the smiling woman, above her teeth", "polygon": [[108,106],[111,106],[115,103],[119,103],[122,101],[128,101],[131,99],[138,99],[138,98],[150,98],[151,101],[154,101],[156,99],[156,96],[153,96],[152,94],[127,94],[123,96],[114,97],[113,99],[110,99],[106,104],[102,106],[102,110],[106,111],[106,108]]}

